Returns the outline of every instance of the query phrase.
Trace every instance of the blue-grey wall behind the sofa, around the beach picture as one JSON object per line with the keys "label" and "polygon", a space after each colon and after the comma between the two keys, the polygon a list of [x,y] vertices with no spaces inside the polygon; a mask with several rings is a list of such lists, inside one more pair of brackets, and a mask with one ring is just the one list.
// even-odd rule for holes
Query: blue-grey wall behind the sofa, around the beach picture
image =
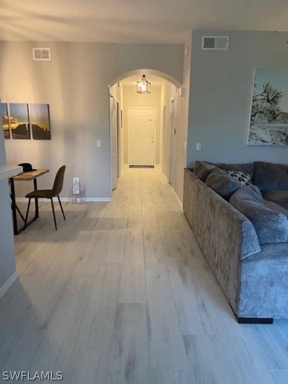
{"label": "blue-grey wall behind the sofa, around the beach picture", "polygon": [[[228,35],[229,49],[201,50],[202,35]],[[195,159],[288,162],[288,146],[246,145],[254,67],[288,67],[286,39],[286,32],[193,31],[188,166]]]}

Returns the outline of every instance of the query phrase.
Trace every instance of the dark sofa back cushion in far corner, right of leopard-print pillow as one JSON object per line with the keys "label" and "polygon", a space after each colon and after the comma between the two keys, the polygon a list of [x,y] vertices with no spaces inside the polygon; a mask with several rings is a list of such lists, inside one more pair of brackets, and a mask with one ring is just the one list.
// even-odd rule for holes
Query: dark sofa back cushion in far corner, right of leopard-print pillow
{"label": "dark sofa back cushion in far corner, right of leopard-print pillow", "polygon": [[255,161],[252,181],[260,190],[288,189],[288,165]]}

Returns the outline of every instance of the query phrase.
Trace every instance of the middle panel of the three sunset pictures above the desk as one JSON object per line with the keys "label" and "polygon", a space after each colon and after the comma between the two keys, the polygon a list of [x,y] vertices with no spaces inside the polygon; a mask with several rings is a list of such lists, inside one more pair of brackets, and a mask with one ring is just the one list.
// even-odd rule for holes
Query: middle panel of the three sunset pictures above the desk
{"label": "middle panel of the three sunset pictures above the desk", "polygon": [[12,138],[29,139],[30,124],[28,104],[9,103],[9,121],[11,126]]}

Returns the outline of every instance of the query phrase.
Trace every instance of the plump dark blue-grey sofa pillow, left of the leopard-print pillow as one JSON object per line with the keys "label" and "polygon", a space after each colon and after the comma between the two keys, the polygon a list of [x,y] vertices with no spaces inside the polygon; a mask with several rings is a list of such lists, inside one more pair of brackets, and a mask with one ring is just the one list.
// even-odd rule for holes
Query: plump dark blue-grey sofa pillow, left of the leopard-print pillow
{"label": "plump dark blue-grey sofa pillow, left of the leopard-print pillow", "polygon": [[220,196],[229,199],[241,187],[240,181],[228,175],[223,169],[215,168],[209,173],[206,184]]}

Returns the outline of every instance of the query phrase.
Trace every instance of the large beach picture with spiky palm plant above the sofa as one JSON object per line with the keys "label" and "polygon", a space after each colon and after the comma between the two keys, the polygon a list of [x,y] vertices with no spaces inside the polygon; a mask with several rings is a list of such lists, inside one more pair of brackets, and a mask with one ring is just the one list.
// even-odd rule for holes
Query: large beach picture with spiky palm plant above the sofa
{"label": "large beach picture with spiky palm plant above the sofa", "polygon": [[288,145],[288,68],[255,68],[248,144]]}

